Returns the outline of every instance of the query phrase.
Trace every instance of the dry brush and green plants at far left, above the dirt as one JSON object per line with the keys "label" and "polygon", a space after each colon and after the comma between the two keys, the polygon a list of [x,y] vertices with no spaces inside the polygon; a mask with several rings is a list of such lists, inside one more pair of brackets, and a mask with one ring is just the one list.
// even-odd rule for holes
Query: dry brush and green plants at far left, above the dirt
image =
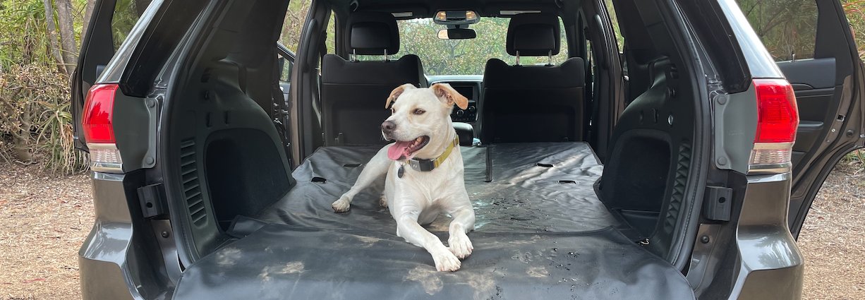
{"label": "dry brush and green plants at far left, above the dirt", "polygon": [[[85,3],[73,1],[75,35]],[[69,79],[52,57],[42,1],[0,0],[0,45],[0,161],[42,161],[62,174],[85,169],[73,149]]]}

